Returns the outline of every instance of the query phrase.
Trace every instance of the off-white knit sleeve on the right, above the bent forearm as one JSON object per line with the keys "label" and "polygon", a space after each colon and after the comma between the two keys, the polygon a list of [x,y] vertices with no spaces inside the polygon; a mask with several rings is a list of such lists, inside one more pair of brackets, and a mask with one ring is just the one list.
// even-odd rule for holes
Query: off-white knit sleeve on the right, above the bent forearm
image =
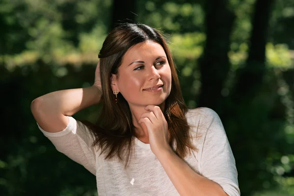
{"label": "off-white knit sleeve on the right, above the bent forearm", "polygon": [[198,152],[201,175],[221,185],[229,196],[240,196],[235,158],[218,114],[204,108],[207,125]]}

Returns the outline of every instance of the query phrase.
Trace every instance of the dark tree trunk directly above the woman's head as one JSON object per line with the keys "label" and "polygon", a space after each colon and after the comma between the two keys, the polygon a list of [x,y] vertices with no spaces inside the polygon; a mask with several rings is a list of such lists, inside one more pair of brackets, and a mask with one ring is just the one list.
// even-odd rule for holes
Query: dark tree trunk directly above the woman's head
{"label": "dark tree trunk directly above the woman's head", "polygon": [[110,30],[123,22],[134,23],[135,9],[135,0],[113,0],[112,23]]}

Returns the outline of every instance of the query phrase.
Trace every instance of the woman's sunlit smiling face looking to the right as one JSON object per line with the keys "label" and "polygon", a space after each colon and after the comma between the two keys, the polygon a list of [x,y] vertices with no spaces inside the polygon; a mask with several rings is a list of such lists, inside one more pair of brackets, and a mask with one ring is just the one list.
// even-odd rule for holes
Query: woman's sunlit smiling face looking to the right
{"label": "woman's sunlit smiling face looking to the right", "polygon": [[130,107],[160,105],[170,95],[172,87],[166,53],[160,44],[151,41],[128,49],[118,75],[113,78],[112,89],[120,91]]}

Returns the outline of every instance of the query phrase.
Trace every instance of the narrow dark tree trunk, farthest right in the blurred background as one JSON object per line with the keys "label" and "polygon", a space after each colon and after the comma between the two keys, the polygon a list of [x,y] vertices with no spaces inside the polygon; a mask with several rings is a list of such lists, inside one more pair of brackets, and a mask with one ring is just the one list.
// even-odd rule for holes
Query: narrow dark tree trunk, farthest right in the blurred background
{"label": "narrow dark tree trunk, farthest right in the blurred background", "polygon": [[273,0],[257,0],[255,3],[248,58],[245,68],[237,73],[234,98],[253,98],[261,87],[272,4]]}

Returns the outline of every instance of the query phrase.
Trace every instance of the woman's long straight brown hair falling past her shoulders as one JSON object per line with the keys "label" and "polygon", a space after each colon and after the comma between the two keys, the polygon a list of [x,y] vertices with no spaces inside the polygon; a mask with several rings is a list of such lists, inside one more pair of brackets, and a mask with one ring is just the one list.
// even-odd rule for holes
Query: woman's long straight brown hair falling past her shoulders
{"label": "woman's long straight brown hair falling past her shoulders", "polygon": [[106,37],[98,57],[100,58],[100,74],[102,85],[102,108],[96,124],[83,122],[90,127],[96,136],[93,146],[98,145],[105,158],[114,156],[126,158],[127,165],[131,149],[134,147],[135,127],[127,101],[118,94],[118,103],[110,85],[111,74],[118,74],[123,55],[132,46],[147,40],[162,46],[168,58],[172,73],[172,88],[165,100],[164,116],[168,122],[170,145],[172,149],[184,158],[190,149],[196,149],[190,138],[190,126],[185,114],[187,106],[183,100],[179,80],[172,53],[161,33],[150,26],[142,24],[122,24],[115,27]]}

